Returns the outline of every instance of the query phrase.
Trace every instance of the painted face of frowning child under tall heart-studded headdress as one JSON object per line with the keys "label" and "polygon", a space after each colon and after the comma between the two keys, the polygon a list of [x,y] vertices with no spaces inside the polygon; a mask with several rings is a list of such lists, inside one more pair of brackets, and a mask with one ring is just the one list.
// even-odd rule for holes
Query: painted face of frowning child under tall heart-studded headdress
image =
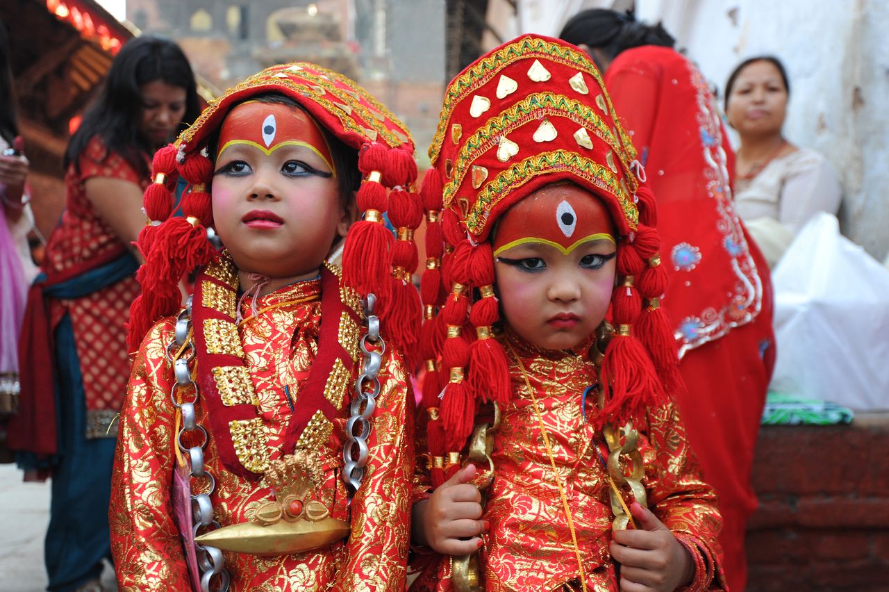
{"label": "painted face of frowning child under tall heart-studded headdress", "polygon": [[494,273],[506,322],[539,348],[569,349],[605,319],[614,289],[614,225],[597,197],[549,185],[501,218]]}

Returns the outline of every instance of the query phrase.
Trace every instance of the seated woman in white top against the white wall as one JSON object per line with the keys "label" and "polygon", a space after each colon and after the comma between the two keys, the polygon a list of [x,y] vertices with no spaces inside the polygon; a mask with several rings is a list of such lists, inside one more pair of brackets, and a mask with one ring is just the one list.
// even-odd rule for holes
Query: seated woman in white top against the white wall
{"label": "seated woman in white top against the white wall", "polygon": [[813,213],[836,214],[842,198],[827,159],[784,139],[789,96],[787,71],[772,56],[742,61],[725,84],[728,124],[741,138],[737,211],[772,266]]}

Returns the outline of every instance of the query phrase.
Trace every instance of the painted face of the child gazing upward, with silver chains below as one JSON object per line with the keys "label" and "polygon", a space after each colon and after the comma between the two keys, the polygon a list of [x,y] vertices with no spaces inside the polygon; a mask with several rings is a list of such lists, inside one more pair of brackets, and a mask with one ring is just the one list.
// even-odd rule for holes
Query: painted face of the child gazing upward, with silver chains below
{"label": "painted face of the child gazing upward, with silver chains below", "polygon": [[298,108],[247,102],[226,117],[219,146],[213,220],[237,267],[273,278],[316,273],[350,220],[315,121]]}

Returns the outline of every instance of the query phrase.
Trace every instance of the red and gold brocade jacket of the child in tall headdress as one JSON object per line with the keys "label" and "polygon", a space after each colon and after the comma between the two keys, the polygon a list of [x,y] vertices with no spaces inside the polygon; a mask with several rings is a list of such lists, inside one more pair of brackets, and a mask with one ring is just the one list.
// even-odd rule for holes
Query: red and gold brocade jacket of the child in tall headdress
{"label": "red and gold brocade jacket of the child in tall headdress", "polygon": [[[617,590],[616,565],[609,553],[612,540],[611,501],[605,468],[594,446],[607,458],[601,433],[584,422],[581,398],[597,382],[595,366],[586,356],[542,351],[510,338],[525,364],[535,390],[543,425],[549,434],[558,479],[572,513],[573,525],[589,590]],[[482,519],[491,524],[479,551],[479,572],[485,590],[581,589],[580,571],[565,510],[553,476],[540,422],[525,379],[510,364],[513,401],[503,411],[494,437],[495,476]],[[588,396],[588,413],[595,402]],[[589,418],[588,418],[589,421]],[[638,449],[645,462],[642,484],[648,507],[698,566],[690,590],[723,589],[721,549],[717,535],[722,518],[713,489],[701,479],[676,407],[650,410],[640,432]],[[418,430],[419,432],[419,430]],[[422,450],[422,434],[418,452]],[[428,473],[418,461],[415,501],[428,495]],[[624,492],[627,505],[633,502]],[[431,554],[431,555],[430,555]],[[453,590],[451,562],[418,549],[414,564],[422,573],[412,590]]]}

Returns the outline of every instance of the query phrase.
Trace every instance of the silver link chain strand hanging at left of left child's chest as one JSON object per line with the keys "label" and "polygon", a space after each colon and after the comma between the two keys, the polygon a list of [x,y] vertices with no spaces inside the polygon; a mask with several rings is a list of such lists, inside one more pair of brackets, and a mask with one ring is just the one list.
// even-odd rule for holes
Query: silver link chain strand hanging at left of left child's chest
{"label": "silver link chain strand hanging at left of left child's chest", "polygon": [[[191,332],[191,297],[188,297],[185,310],[180,312],[176,319],[175,339],[167,345],[167,359],[173,363],[173,373],[176,382],[170,390],[170,399],[172,404],[182,412],[182,428],[176,435],[176,445],[185,455],[188,462],[188,473],[196,479],[206,481],[208,486],[204,492],[195,493],[191,489],[191,479],[188,480],[188,490],[191,495],[191,511],[194,525],[194,536],[197,536],[198,529],[202,527],[212,526],[219,528],[220,524],[213,520],[213,504],[210,496],[216,489],[216,479],[206,469],[204,464],[204,449],[206,448],[209,436],[207,430],[197,423],[197,415],[195,404],[197,403],[198,389],[197,383],[191,378],[191,370],[195,359],[195,343],[194,340],[188,340],[188,334]],[[176,352],[180,349],[182,353],[179,358],[173,359]],[[192,396],[189,400],[180,403],[177,400],[176,392],[180,389],[188,389]],[[203,436],[200,445],[186,447],[182,445],[182,435],[186,432],[199,432]],[[210,580],[215,575],[220,576],[220,580],[216,588],[212,588],[212,592],[226,592],[230,578],[228,571],[225,569],[225,558],[222,551],[215,547],[207,547],[195,543],[195,551],[197,554],[197,563],[201,569],[201,590],[202,592],[211,592]]]}

